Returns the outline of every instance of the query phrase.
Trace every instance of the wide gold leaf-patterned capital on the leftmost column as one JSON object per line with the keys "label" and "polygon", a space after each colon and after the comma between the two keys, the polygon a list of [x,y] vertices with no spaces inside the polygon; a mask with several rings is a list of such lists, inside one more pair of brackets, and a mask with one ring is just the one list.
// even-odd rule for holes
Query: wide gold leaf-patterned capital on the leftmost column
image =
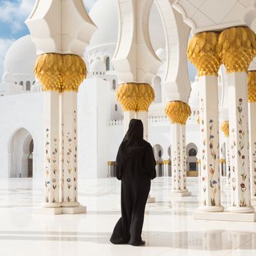
{"label": "wide gold leaf-patterned capital on the leftmost column", "polygon": [[37,58],[34,74],[43,91],[78,91],[86,78],[86,64],[73,54],[45,53]]}

